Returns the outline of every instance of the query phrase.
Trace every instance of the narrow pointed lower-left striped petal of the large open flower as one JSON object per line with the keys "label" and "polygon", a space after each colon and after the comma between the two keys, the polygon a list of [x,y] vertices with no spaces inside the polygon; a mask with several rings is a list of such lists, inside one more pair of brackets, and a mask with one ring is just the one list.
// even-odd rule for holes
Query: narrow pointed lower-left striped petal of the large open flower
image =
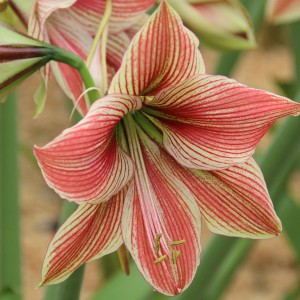
{"label": "narrow pointed lower-left striped petal of the large open flower", "polygon": [[81,204],[51,241],[41,285],[59,283],[78,267],[122,245],[121,216],[126,190],[105,203]]}

